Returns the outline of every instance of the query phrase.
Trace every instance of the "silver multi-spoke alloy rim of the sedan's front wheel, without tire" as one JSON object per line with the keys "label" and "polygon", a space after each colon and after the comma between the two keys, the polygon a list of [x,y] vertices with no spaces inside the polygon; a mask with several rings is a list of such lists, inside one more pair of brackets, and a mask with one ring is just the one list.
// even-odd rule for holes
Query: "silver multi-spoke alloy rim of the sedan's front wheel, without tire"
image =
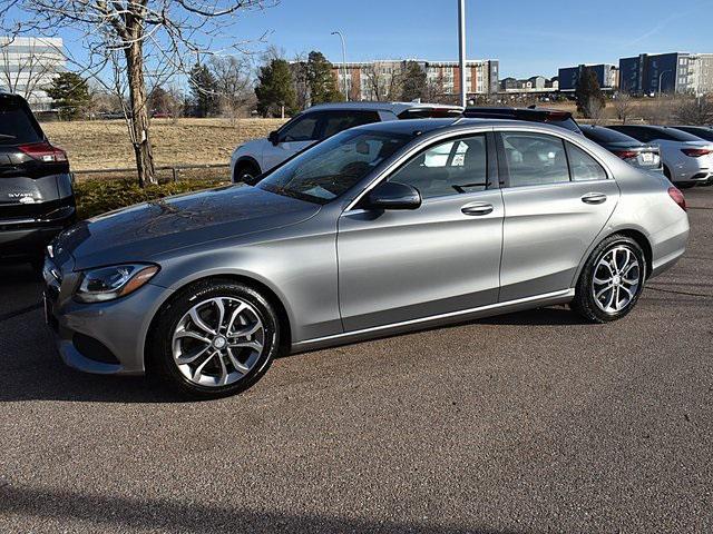
{"label": "silver multi-spoke alloy rim of the sedan's front wheel, without tire", "polygon": [[247,375],[265,346],[257,310],[235,297],[215,297],[193,306],[173,334],[174,362],[201,386],[234,384]]}

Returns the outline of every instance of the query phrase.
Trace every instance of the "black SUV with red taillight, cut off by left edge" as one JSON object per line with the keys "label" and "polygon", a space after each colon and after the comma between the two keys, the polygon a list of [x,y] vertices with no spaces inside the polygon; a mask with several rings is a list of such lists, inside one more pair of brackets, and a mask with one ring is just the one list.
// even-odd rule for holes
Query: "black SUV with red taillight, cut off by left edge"
{"label": "black SUV with red taillight, cut off by left edge", "polygon": [[0,92],[0,259],[41,266],[46,245],[75,219],[67,154],[23,98]]}

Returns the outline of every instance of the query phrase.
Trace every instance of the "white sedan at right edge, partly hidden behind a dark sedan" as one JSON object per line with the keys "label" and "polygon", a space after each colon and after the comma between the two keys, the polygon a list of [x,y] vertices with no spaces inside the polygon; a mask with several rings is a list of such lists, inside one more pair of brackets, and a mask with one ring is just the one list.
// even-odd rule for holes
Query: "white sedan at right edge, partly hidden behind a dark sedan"
{"label": "white sedan at right edge, partly hidden behind a dark sedan", "polygon": [[664,174],[677,187],[705,184],[713,177],[713,142],[665,126],[623,125],[608,128],[661,149]]}

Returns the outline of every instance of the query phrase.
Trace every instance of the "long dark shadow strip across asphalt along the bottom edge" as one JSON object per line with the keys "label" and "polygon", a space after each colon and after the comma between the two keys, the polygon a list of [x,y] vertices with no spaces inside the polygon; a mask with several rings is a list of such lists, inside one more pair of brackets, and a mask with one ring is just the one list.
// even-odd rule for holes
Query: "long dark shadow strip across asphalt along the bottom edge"
{"label": "long dark shadow strip across asphalt along the bottom edge", "polygon": [[240,506],[182,503],[177,500],[136,498],[85,494],[69,490],[45,490],[20,486],[0,481],[0,514],[51,525],[58,523],[69,530],[79,524],[100,525],[110,532],[154,531],[205,533],[279,533],[279,532],[384,532],[412,534],[508,534],[515,531],[480,526],[446,526],[339,517],[289,512],[255,511]]}

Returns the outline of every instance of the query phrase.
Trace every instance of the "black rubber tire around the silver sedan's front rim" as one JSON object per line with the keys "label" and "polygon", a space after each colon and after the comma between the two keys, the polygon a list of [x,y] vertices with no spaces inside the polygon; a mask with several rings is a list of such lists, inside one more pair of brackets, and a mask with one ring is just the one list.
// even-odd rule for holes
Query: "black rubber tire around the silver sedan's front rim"
{"label": "black rubber tire around the silver sedan's front rim", "polygon": [[[196,304],[218,297],[238,299],[252,306],[264,327],[263,349],[250,372],[237,382],[204,386],[192,382],[179,369],[174,359],[173,335],[178,323]],[[150,378],[158,379],[183,395],[205,399],[226,397],[244,392],[267,372],[280,349],[280,320],[270,301],[254,288],[229,279],[201,280],[182,289],[162,307],[149,334],[147,348],[146,372]],[[217,365],[217,362],[214,364]]]}

